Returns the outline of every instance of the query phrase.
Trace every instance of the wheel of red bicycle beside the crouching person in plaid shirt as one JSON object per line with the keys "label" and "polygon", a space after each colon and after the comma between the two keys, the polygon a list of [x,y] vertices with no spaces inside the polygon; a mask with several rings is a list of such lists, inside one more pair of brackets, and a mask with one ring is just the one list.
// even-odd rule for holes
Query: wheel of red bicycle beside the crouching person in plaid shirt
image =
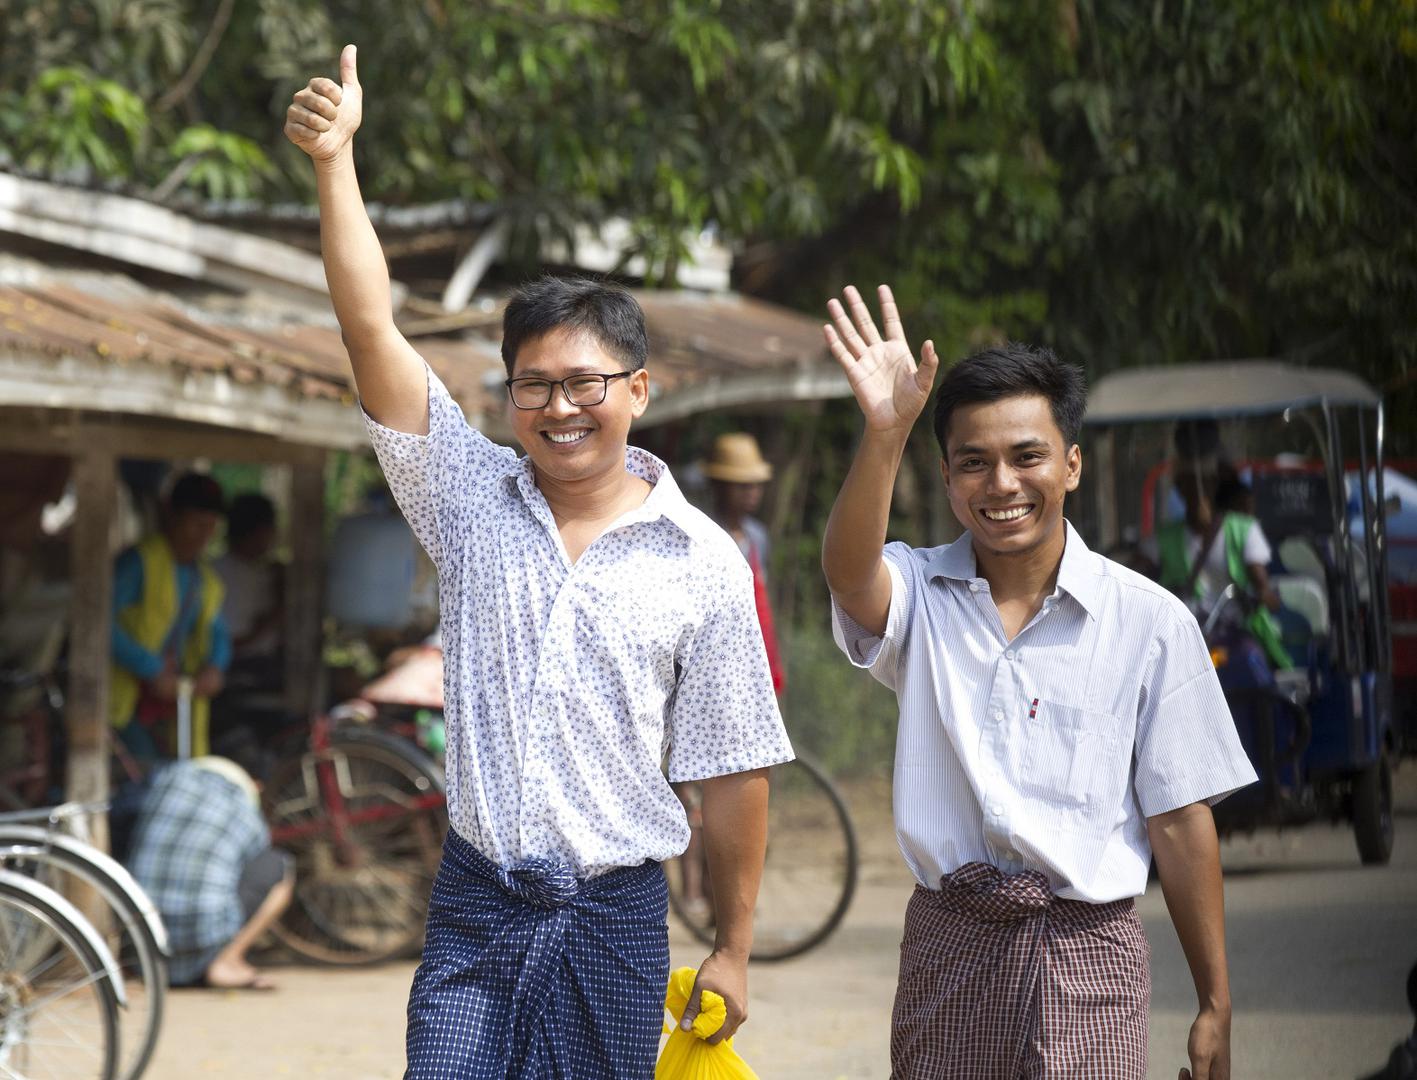
{"label": "wheel of red bicycle beside the crouching person in plaid shirt", "polygon": [[374,964],[417,950],[442,859],[442,771],[407,740],[336,731],[266,785],[272,842],[296,860],[276,937],[320,964]]}

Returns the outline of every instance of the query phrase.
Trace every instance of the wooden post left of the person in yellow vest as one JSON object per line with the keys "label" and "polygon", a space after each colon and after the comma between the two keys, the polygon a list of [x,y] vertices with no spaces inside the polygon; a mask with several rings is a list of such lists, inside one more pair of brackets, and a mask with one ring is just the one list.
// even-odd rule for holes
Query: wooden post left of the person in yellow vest
{"label": "wooden post left of the person in yellow vest", "polygon": [[[69,550],[74,583],[69,636],[69,689],[64,717],[68,736],[65,798],[99,802],[109,795],[108,761],[112,727],[108,719],[109,619],[113,557],[108,549],[113,520],[115,462],[103,446],[75,458],[78,517]],[[95,815],[89,839],[108,849],[108,816]]]}

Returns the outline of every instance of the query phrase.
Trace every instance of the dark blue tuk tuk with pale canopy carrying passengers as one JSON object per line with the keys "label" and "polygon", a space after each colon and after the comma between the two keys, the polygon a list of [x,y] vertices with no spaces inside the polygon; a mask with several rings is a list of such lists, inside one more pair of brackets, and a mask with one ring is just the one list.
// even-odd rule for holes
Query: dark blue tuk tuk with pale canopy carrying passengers
{"label": "dark blue tuk tuk with pale canopy carrying passengers", "polygon": [[[1163,537],[1175,553],[1169,537],[1195,520],[1193,506],[1233,503],[1206,505],[1213,513],[1200,520],[1214,524],[1204,544],[1189,541],[1185,584],[1170,583],[1200,621],[1260,775],[1216,808],[1223,833],[1346,819],[1365,863],[1391,855],[1403,738],[1393,729],[1383,434],[1380,395],[1346,371],[1180,364],[1119,371],[1093,388],[1071,514],[1094,550],[1158,577]],[[1254,550],[1268,554],[1265,597],[1233,573],[1197,584],[1216,516],[1231,513],[1263,530]]]}

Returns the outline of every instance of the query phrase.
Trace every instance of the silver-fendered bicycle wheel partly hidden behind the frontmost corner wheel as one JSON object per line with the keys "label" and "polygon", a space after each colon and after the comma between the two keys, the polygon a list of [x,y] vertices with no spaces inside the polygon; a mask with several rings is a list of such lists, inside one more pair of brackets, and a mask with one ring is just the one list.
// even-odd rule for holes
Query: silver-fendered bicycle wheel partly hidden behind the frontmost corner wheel
{"label": "silver-fendered bicycle wheel partly hidden behind the frontmost corner wheel", "polygon": [[152,900],[111,856],[74,836],[28,825],[0,825],[0,863],[64,896],[79,882],[108,910],[99,930],[118,961],[128,992],[119,1015],[119,1080],[137,1080],[147,1067],[162,1029],[167,999],[167,934]]}

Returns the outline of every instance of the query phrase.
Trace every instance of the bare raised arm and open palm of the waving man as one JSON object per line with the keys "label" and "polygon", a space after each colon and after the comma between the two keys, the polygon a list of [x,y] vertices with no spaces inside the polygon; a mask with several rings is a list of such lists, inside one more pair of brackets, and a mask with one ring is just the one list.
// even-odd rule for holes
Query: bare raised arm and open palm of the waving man
{"label": "bare raised arm and open palm of the waving man", "polygon": [[890,574],[881,549],[896,472],[939,367],[931,342],[915,364],[890,286],[880,286],[880,300],[884,339],[854,286],[846,288],[850,315],[839,300],[829,300],[832,322],[822,327],[866,417],[862,445],[826,523],[822,570],[842,609],[877,635],[886,632],[890,612]]}

